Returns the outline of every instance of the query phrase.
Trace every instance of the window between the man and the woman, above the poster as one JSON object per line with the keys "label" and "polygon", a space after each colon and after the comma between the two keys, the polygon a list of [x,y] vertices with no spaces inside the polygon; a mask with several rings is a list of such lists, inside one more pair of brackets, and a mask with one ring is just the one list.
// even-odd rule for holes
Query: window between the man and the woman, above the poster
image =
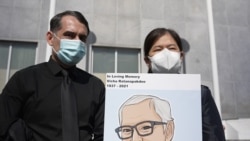
{"label": "window between the man and the woman, above the poster", "polygon": [[92,47],[93,73],[140,72],[140,49]]}

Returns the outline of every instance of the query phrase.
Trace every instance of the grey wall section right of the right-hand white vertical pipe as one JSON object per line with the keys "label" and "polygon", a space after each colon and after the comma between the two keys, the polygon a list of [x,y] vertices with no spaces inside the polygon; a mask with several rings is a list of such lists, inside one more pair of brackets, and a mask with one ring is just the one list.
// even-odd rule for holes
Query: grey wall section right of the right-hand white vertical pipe
{"label": "grey wall section right of the right-hand white vertical pipe", "polygon": [[213,1],[224,119],[250,117],[249,6],[249,0]]}

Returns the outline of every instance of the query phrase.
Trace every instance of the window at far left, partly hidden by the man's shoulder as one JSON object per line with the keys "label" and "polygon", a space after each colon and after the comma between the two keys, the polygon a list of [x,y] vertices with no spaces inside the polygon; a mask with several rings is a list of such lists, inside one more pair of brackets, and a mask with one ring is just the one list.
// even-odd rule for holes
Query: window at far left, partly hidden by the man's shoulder
{"label": "window at far left, partly hidden by the man's shoulder", "polygon": [[0,92],[19,69],[35,64],[36,43],[0,41]]}

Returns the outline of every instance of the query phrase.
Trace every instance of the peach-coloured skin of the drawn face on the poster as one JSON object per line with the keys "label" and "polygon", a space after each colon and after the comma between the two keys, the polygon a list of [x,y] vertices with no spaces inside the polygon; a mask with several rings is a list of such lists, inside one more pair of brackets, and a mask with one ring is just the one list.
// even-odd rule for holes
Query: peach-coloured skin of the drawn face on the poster
{"label": "peach-coloured skin of the drawn face on the poster", "polygon": [[[157,124],[151,126],[147,122],[143,121],[157,121],[161,122],[161,118],[156,114],[154,106],[149,104],[149,100],[144,100],[138,104],[125,106],[122,111],[121,126],[135,126],[133,128],[132,137],[123,139],[123,141],[168,141],[167,132],[164,131],[163,124]],[[141,123],[141,124],[138,124]],[[153,128],[150,128],[153,127]],[[128,132],[124,128],[124,132]],[[152,131],[152,132],[150,132]],[[140,134],[149,134],[146,136],[140,136]],[[171,140],[171,139],[170,139]]]}

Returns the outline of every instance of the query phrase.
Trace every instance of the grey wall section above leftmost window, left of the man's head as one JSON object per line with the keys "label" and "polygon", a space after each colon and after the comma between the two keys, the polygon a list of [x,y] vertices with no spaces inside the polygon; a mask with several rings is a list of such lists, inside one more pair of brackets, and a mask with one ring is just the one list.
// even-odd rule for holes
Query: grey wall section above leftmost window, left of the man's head
{"label": "grey wall section above leftmost window, left of the man's head", "polygon": [[37,62],[45,60],[49,2],[1,0],[0,40],[38,42]]}

